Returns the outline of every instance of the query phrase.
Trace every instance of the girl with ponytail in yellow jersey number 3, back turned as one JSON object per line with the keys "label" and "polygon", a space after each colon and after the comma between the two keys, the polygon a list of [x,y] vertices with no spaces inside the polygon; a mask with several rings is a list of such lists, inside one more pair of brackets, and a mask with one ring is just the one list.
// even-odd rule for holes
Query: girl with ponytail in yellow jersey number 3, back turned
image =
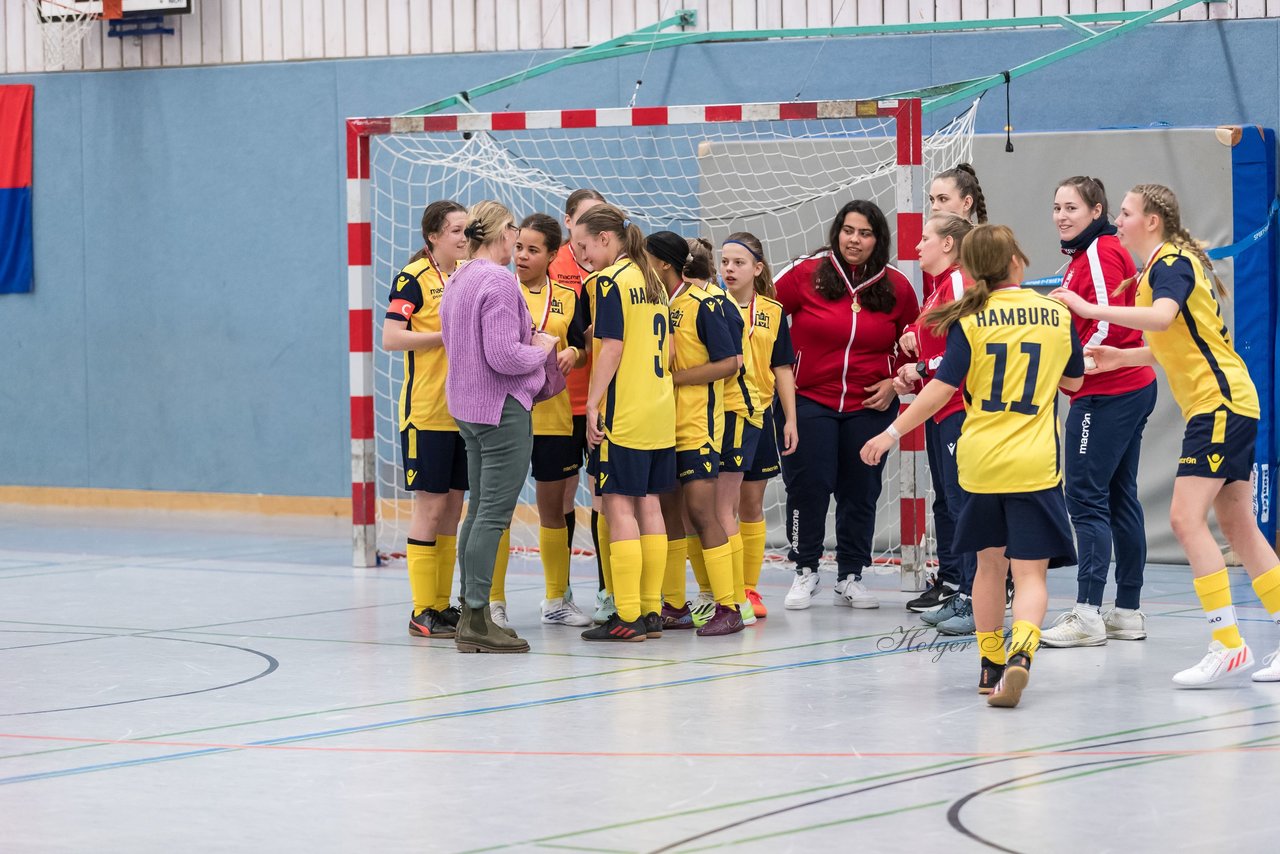
{"label": "girl with ponytail in yellow jersey number 3, back turned", "polygon": [[617,607],[582,639],[660,638],[667,531],[658,495],[675,487],[676,475],[667,294],[649,266],[644,234],[617,207],[596,205],[579,216],[572,241],[596,270],[586,438],[596,448],[595,489],[609,525],[605,580]]}

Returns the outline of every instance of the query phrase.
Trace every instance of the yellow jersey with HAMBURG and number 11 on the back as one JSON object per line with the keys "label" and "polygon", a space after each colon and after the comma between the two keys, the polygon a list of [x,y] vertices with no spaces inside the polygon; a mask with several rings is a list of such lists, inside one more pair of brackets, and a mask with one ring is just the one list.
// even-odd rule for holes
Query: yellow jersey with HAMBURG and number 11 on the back
{"label": "yellow jersey with HAMBURG and number 11 on the back", "polygon": [[1062,481],[1057,387],[1083,376],[1071,312],[1019,287],[993,291],[947,330],[937,379],[964,385],[956,467],[965,492],[1023,493]]}

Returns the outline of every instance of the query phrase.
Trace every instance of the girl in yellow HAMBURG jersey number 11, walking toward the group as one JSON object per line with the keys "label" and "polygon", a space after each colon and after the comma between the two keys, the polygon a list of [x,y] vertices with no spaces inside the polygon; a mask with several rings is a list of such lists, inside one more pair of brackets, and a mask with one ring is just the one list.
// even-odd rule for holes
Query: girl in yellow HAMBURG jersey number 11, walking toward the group
{"label": "girl in yellow HAMBURG jersey number 11, walking toward the group", "polygon": [[[1007,227],[978,225],[969,232],[960,264],[973,286],[923,318],[937,334],[946,334],[942,365],[861,456],[868,465],[878,463],[904,433],[941,410],[964,384],[956,467],[966,498],[952,548],[978,553],[973,583],[982,657],[978,691],[989,694],[991,705],[1012,707],[1039,647],[1048,606],[1044,572],[1075,563],[1059,465],[1057,389],[1080,387],[1084,359],[1062,303],[1021,289],[1027,255]],[[1006,557],[1015,586],[1007,652]]]}

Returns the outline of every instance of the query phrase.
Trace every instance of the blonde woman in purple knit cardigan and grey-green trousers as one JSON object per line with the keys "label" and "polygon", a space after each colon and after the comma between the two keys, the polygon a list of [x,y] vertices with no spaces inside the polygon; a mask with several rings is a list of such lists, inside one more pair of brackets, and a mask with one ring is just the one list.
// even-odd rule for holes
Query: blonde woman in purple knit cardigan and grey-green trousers
{"label": "blonde woman in purple knit cardigan and grey-green trousers", "polygon": [[530,411],[547,379],[556,338],[534,332],[516,277],[507,269],[520,229],[495,201],[467,213],[471,260],[449,279],[440,329],[449,374],[449,415],[467,448],[471,498],[458,536],[462,618],[454,643],[463,653],[524,653],[529,643],[489,613],[489,586],[502,531],[529,474]]}

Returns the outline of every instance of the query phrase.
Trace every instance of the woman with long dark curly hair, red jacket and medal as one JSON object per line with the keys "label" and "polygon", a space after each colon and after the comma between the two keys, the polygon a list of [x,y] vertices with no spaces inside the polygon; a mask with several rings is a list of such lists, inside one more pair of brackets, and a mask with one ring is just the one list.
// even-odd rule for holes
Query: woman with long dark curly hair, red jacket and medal
{"label": "woman with long dark curly hair, red jacket and medal", "polygon": [[808,608],[818,588],[827,507],[836,495],[836,604],[877,608],[861,584],[872,562],[876,502],[883,462],[859,452],[897,416],[893,378],[905,356],[897,339],[919,314],[911,283],[890,266],[888,222],[874,202],[851,201],[836,214],[827,248],[777,279],[777,300],[791,318],[796,430],[783,458],[788,560],[796,579],[785,606]]}

